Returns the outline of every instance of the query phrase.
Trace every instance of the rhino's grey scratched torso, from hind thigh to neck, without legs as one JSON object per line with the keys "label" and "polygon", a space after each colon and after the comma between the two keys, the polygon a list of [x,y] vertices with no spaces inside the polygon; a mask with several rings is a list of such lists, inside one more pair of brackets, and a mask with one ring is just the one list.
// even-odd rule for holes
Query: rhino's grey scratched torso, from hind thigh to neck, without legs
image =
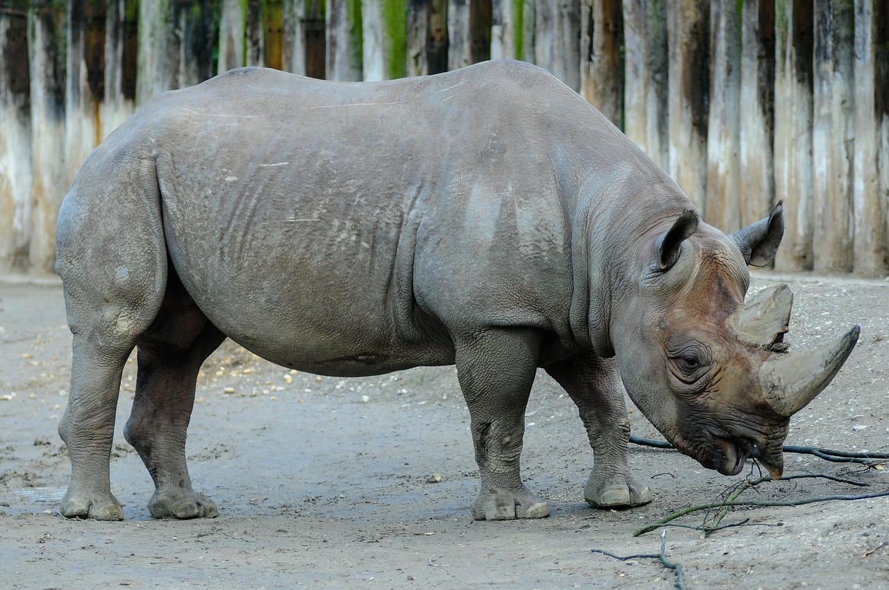
{"label": "rhino's grey scratched torso, from hind thigh to neck, without legs", "polygon": [[373,84],[247,68],[158,97],[118,141],[155,158],[167,250],[210,320],[351,374],[453,363],[453,332],[485,325],[570,342],[581,136],[603,124],[517,63]]}

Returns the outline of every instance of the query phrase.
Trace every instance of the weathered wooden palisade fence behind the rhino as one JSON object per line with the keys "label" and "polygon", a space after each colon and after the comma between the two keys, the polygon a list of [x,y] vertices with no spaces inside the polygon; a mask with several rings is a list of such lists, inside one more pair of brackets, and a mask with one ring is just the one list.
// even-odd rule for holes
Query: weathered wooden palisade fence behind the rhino
{"label": "weathered wooden palisade fence behind the rhino", "polygon": [[0,271],[52,272],[62,195],[156,92],[243,65],[333,80],[532,61],[776,267],[885,275],[886,0],[0,0]]}

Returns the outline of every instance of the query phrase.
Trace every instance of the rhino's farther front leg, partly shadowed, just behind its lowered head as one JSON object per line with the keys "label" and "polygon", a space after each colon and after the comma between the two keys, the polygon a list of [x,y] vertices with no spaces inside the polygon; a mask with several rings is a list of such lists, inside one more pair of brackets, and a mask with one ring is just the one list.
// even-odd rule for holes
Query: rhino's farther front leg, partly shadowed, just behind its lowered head
{"label": "rhino's farther front leg, partly shadowed, just behind its lowered head", "polygon": [[597,508],[625,508],[651,502],[652,490],[629,474],[629,420],[617,363],[589,353],[546,369],[577,404],[593,448],[595,462],[583,489],[584,498]]}

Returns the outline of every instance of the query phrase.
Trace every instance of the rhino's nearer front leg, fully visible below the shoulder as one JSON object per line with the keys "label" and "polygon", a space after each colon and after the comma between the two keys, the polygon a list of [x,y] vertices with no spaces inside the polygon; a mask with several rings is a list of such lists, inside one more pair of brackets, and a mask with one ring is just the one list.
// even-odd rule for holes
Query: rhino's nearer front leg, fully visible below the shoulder
{"label": "rhino's nearer front leg, fully visible below the shoulder", "polygon": [[531,330],[487,330],[458,343],[457,373],[469,406],[482,490],[476,520],[545,518],[549,506],[522,483],[519,458],[539,336]]}

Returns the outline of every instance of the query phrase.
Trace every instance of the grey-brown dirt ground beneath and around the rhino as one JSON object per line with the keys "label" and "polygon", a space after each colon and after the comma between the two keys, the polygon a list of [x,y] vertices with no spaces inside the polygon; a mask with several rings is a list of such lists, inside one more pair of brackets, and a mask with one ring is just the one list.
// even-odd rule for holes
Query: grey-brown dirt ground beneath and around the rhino
{"label": "grey-brown dirt ground beneath and around the rhino", "polygon": [[[787,282],[788,340],[812,347],[861,324],[833,384],[793,420],[788,444],[889,451],[889,281],[756,275],[751,291]],[[204,364],[188,438],[212,520],[154,521],[153,486],[121,433],[135,363],[124,372],[111,461],[124,522],[58,512],[69,465],[56,426],[68,401],[70,334],[60,284],[0,281],[0,586],[110,588],[671,588],[654,559],[661,530],[633,531],[685,506],[717,501],[736,477],[675,451],[631,445],[649,506],[597,511],[582,496],[592,465],[577,411],[543,371],[526,422],[523,473],[549,498],[539,521],[473,522],[478,486],[469,412],[453,367],[370,379],[320,378],[262,361],[227,341]],[[656,437],[628,405],[636,435]],[[889,490],[885,469],[786,455],[785,474],[743,498],[797,500]],[[438,481],[440,478],[440,481]],[[699,526],[704,513],[675,522]],[[889,588],[889,498],[735,508],[701,538],[666,529],[666,556],[701,588]]]}

